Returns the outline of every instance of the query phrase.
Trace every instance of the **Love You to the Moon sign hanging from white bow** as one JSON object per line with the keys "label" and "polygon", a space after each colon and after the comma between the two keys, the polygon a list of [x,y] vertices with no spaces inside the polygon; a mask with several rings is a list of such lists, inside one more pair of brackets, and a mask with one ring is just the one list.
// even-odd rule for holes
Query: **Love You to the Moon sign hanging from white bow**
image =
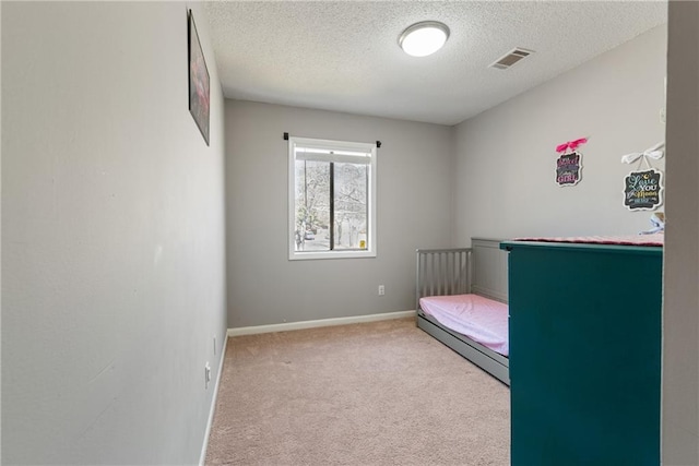
{"label": "Love You to the Moon sign hanging from white bow", "polygon": [[[627,154],[621,162],[632,164],[638,160],[638,167],[624,179],[624,205],[629,211],[654,211],[663,204],[663,172],[651,167],[649,158],[662,158],[665,143],[661,142],[643,151]],[[647,170],[641,170],[645,163]]]}

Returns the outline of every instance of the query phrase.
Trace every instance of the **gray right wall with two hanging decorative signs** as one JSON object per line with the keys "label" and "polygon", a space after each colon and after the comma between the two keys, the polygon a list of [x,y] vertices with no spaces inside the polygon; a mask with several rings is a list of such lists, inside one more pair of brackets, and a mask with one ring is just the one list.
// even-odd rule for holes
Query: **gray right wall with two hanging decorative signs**
{"label": "gray right wall with two hanging decorative signs", "polygon": [[[663,25],[458,126],[457,242],[648,229],[649,212],[623,205],[636,165],[620,157],[664,140],[665,48]],[[582,180],[558,187],[555,147],[583,136]]]}

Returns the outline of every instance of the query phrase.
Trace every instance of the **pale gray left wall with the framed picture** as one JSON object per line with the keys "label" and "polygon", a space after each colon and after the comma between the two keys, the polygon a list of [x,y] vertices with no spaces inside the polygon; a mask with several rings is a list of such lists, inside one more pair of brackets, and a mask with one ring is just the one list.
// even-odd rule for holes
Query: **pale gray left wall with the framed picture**
{"label": "pale gray left wall with the framed picture", "polygon": [[226,295],[196,17],[211,147],[186,3],[2,2],[3,464],[199,462]]}

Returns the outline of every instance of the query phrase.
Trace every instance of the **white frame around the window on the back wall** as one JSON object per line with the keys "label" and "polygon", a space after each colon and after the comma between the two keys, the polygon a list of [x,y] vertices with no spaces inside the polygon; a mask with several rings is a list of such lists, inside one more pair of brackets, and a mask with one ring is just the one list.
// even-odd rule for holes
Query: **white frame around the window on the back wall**
{"label": "white frame around the window on the back wall", "polygon": [[[296,230],[296,147],[318,148],[324,151],[350,151],[364,152],[370,154],[367,164],[369,180],[367,183],[367,249],[363,250],[330,250],[330,251],[296,251],[294,232]],[[341,156],[339,156],[341,158]],[[335,160],[341,162],[341,160]],[[376,258],[377,255],[377,144],[320,140],[312,138],[288,138],[288,225],[286,236],[288,241],[289,261],[315,260],[315,259],[360,259]],[[330,193],[331,199],[334,192]]]}

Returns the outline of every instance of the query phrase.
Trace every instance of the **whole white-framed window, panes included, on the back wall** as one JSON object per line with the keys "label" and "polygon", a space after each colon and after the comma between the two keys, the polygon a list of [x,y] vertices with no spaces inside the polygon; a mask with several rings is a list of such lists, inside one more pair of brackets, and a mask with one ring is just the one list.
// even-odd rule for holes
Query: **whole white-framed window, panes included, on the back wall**
{"label": "whole white-framed window, panes included, on the back wall", "polygon": [[376,144],[289,138],[289,259],[376,256]]}

